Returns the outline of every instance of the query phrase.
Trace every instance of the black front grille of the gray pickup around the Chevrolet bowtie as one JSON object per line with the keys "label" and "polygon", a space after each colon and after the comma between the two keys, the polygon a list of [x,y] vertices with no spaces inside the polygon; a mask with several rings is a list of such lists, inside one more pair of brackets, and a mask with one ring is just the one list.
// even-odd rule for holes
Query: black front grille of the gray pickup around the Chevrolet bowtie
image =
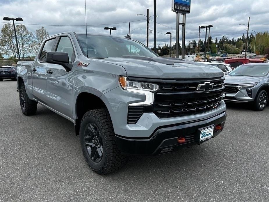
{"label": "black front grille of the gray pickup around the Chevrolet bowtie", "polygon": [[[207,80],[161,80],[160,89],[154,93],[154,103],[129,106],[128,123],[136,123],[144,112],[153,112],[159,118],[179,117],[211,111],[221,105],[224,78]],[[197,89],[198,84],[210,82],[209,89]],[[212,84],[213,83],[213,84]]]}

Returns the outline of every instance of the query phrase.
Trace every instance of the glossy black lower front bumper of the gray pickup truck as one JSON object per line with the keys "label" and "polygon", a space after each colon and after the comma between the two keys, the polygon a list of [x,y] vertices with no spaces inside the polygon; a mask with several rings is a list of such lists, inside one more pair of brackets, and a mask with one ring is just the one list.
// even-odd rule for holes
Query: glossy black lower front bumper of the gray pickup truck
{"label": "glossy black lower front bumper of the gray pickup truck", "polygon": [[[221,130],[214,130],[216,137],[222,130],[226,120],[226,112],[196,121],[166,125],[156,128],[149,138],[135,139],[116,134],[117,148],[124,154],[157,155],[189,147],[199,142],[199,128],[210,125],[221,125]],[[178,143],[177,138],[184,137],[184,143]]]}

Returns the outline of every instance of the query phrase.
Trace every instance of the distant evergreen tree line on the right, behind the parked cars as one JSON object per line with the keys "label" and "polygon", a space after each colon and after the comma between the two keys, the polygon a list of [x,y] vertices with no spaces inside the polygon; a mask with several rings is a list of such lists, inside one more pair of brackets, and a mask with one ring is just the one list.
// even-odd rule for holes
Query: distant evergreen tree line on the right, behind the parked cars
{"label": "distant evergreen tree line on the right, behind the parked cars", "polygon": [[[206,43],[206,44],[205,44]],[[214,41],[211,36],[206,41],[202,39],[199,40],[199,50],[198,50],[198,42],[196,40],[189,41],[185,45],[185,54],[194,54],[195,52],[204,52],[206,47],[206,52],[210,52],[213,54],[216,53],[227,53],[227,54],[239,54],[241,52],[245,52],[245,45],[247,43],[247,37],[243,34],[241,37],[237,39],[228,38],[227,36],[222,36],[222,38],[215,38]],[[268,54],[269,53],[269,33],[266,32],[258,32],[256,35],[256,43],[255,43],[255,35],[252,33],[249,36],[247,52],[254,53],[254,45],[255,45],[255,54]],[[154,48],[151,48],[154,50]],[[164,46],[158,46],[158,50],[161,50],[159,55],[168,55],[170,54],[170,45],[165,44]],[[176,51],[176,44],[172,45],[172,54]],[[181,52],[181,46],[179,44],[179,52]]]}

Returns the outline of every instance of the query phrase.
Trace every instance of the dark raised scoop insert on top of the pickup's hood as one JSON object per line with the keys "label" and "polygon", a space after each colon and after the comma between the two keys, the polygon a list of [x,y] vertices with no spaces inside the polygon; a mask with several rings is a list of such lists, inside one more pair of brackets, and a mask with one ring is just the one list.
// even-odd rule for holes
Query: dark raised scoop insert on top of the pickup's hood
{"label": "dark raised scoop insert on top of the pickup's hood", "polygon": [[179,58],[168,58],[168,57],[146,57],[146,56],[121,56],[122,58],[130,58],[130,59],[138,59],[138,60],[146,60],[152,62],[158,62],[165,65],[174,65],[174,63],[189,63],[186,60]]}

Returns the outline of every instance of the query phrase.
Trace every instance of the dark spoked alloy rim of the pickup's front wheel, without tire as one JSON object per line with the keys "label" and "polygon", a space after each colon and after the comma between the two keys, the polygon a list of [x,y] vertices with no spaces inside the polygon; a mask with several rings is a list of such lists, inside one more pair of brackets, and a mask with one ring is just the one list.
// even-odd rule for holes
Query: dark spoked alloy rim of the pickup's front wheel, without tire
{"label": "dark spoked alloy rim of the pickup's front wheel, without tire", "polygon": [[89,123],[86,126],[84,140],[91,160],[96,163],[100,162],[103,157],[104,148],[101,134],[95,124]]}

